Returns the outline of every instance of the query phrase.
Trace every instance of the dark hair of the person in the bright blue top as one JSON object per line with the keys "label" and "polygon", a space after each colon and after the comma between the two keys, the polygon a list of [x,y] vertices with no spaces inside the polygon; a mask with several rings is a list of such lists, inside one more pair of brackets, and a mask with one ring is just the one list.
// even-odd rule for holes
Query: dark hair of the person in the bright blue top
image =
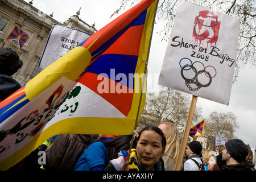
{"label": "dark hair of the person in the bright blue top", "polygon": [[[111,140],[102,141],[102,143],[108,147],[106,151],[106,166],[110,160],[118,158],[118,153],[121,150],[129,150],[131,144],[131,138],[133,135],[119,135]],[[136,148],[137,139],[134,139],[132,148]]]}

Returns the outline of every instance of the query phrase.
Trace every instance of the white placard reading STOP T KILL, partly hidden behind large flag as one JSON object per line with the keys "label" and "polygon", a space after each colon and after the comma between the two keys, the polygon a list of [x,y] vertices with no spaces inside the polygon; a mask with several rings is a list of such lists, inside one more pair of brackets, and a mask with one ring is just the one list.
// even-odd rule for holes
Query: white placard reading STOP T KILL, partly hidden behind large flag
{"label": "white placard reading STOP T KILL, partly hidden behind large flag", "polygon": [[75,28],[55,24],[48,36],[46,46],[39,63],[40,68],[46,68],[65,55],[68,51],[88,39],[90,34]]}

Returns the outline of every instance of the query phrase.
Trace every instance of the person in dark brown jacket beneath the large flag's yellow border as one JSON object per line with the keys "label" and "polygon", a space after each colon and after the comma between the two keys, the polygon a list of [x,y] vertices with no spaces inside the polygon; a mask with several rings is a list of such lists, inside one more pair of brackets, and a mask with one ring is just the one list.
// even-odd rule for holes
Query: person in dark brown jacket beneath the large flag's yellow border
{"label": "person in dark brown jacket beneath the large flag's yellow border", "polygon": [[98,137],[87,134],[57,135],[53,144],[46,148],[46,164],[43,164],[43,168],[47,171],[72,171],[82,153],[91,143],[98,141]]}

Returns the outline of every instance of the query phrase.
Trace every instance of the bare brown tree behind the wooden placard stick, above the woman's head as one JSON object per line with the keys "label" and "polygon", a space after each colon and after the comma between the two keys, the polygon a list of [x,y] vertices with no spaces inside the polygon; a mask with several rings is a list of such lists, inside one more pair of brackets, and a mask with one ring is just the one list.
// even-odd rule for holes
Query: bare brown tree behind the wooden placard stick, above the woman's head
{"label": "bare brown tree behind the wooden placard stick, above the woman's head", "polygon": [[[151,98],[146,98],[140,118],[140,122],[144,125],[158,126],[163,118],[171,119],[176,125],[186,123],[191,103],[189,94],[164,87],[160,90],[157,98],[154,100]],[[196,107],[193,120],[199,122],[201,118],[201,107]]]}

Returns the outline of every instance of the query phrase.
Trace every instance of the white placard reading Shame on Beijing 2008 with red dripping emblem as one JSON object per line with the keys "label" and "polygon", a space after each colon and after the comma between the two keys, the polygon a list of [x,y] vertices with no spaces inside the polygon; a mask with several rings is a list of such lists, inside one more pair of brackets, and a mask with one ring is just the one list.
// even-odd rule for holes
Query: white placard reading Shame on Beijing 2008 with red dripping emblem
{"label": "white placard reading Shame on Beijing 2008 with red dripping emblem", "polygon": [[159,85],[228,105],[238,32],[237,18],[180,2]]}

